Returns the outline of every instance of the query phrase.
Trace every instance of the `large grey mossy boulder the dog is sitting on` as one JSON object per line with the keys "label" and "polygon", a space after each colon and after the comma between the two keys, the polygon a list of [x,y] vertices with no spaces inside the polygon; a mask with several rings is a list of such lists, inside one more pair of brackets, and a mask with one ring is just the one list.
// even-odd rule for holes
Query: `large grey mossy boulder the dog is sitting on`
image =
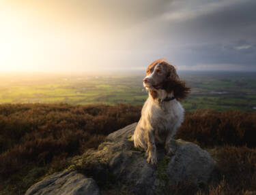
{"label": "large grey mossy boulder the dog is sitting on", "polygon": [[208,183],[214,169],[208,152],[194,143],[173,140],[171,148],[175,154],[166,156],[165,150],[157,147],[158,164],[152,166],[147,163],[145,152],[134,148],[131,137],[136,125],[130,124],[111,133],[97,151],[84,156],[83,166],[96,162],[107,165],[115,181],[126,185],[134,194],[161,194],[168,183]]}

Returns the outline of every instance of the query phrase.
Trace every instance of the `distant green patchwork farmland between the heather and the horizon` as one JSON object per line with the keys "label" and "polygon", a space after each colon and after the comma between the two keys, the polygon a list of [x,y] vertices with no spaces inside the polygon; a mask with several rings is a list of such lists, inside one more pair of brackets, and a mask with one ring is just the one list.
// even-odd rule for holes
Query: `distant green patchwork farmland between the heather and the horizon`
{"label": "distant green patchwork farmland between the heather and the horizon", "polygon": [[[192,88],[182,104],[195,109],[256,109],[256,73],[181,72]],[[141,75],[3,75],[0,103],[129,103],[147,98]]]}

